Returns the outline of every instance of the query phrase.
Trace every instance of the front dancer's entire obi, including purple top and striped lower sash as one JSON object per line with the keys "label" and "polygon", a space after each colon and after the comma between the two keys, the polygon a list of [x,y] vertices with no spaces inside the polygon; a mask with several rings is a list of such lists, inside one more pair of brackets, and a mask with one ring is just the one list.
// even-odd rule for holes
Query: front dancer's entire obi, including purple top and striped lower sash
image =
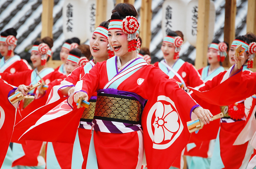
{"label": "front dancer's entire obi, including purple top and striped lower sash", "polygon": [[141,115],[146,100],[134,93],[116,89],[111,91],[115,92],[110,93],[116,94],[98,92],[93,129],[106,133],[129,133],[142,130]]}

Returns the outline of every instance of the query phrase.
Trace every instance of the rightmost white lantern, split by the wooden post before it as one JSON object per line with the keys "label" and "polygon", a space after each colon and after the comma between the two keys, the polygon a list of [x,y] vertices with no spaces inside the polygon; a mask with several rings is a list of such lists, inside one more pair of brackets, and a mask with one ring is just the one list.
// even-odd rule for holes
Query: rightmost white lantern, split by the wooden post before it
{"label": "rightmost white lantern, split by the wooden post before it", "polygon": [[[208,43],[212,42],[212,38],[214,36],[215,17],[216,17],[216,12],[215,12],[214,2],[210,1]],[[187,20],[187,24],[186,24],[187,40],[192,46],[196,46],[197,19],[198,19],[198,0],[192,0],[187,5],[187,19],[186,19]]]}

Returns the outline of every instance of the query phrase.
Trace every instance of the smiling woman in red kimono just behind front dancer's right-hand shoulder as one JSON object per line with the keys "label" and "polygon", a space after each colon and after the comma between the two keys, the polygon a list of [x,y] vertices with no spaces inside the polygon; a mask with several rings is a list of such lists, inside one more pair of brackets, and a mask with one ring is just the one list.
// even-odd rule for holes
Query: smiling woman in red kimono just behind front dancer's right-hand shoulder
{"label": "smiling woman in red kimono just behind front dancer's right-hand shoulder", "polygon": [[182,43],[183,40],[176,32],[168,32],[161,46],[163,60],[156,62],[154,66],[159,67],[170,79],[175,79],[182,83],[185,89],[188,86],[199,86],[203,84],[203,80],[196,68],[192,64],[179,59],[179,51]]}

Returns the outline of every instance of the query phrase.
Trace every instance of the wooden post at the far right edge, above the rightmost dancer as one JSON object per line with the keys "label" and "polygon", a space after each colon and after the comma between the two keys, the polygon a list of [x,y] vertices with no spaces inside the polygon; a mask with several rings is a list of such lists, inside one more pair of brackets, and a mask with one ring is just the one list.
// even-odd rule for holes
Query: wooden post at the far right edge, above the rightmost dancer
{"label": "wooden post at the far right edge, above the rightmost dancer", "polygon": [[248,0],[246,31],[256,34],[256,1]]}

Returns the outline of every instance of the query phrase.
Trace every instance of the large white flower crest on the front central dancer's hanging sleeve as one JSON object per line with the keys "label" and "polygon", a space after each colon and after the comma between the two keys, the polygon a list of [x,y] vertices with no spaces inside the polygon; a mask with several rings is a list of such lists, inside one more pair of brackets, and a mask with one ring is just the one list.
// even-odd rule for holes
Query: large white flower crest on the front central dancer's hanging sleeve
{"label": "large white flower crest on the front central dancer's hanging sleeve", "polygon": [[180,136],[184,126],[174,102],[166,96],[158,96],[147,116],[147,129],[154,149],[166,149]]}

